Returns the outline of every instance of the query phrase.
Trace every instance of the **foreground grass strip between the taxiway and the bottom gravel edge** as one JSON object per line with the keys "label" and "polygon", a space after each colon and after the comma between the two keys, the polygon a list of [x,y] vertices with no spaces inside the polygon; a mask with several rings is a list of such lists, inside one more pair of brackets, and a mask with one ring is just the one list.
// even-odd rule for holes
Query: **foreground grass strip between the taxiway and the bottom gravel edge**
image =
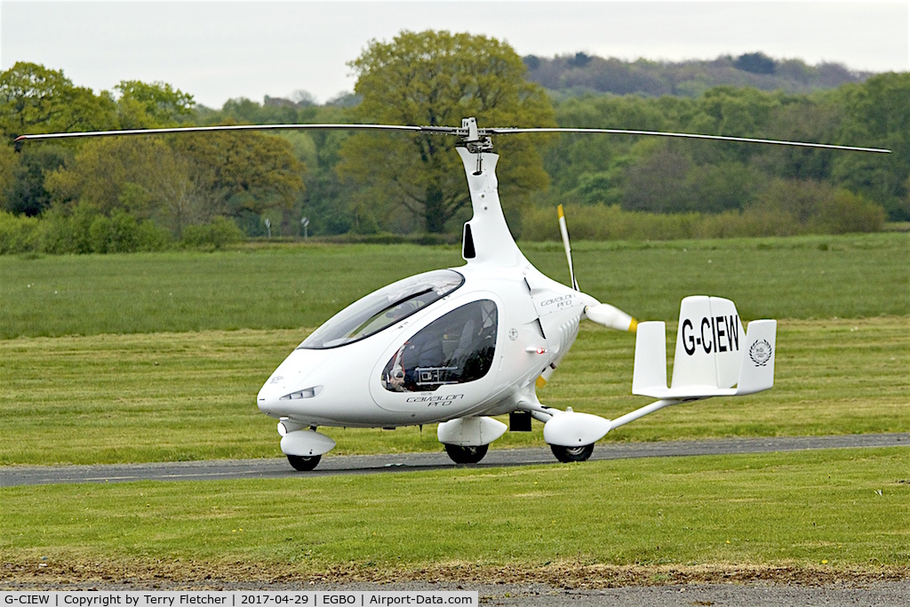
{"label": "foreground grass strip between the taxiway and the bottom gravel edge", "polygon": [[553,562],[906,574],[908,479],[910,451],[877,449],[17,487],[0,490],[0,557],[33,571],[130,563],[221,580],[339,569],[433,579],[439,566]]}

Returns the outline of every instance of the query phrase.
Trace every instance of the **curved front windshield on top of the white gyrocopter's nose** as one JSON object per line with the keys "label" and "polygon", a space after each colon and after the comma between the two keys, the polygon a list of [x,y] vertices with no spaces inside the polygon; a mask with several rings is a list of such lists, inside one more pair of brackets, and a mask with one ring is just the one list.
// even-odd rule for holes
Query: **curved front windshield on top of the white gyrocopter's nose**
{"label": "curved front windshield on top of the white gyrocopter's nose", "polygon": [[304,339],[299,348],[337,348],[367,338],[444,298],[463,283],[464,277],[450,269],[393,282],[341,310]]}

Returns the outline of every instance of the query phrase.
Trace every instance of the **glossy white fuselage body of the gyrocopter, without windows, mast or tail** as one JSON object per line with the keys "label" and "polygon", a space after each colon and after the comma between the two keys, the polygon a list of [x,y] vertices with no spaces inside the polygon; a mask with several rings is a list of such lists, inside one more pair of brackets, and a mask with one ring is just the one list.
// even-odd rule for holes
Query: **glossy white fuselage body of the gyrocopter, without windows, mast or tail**
{"label": "glossy white fuselage body of the gyrocopter, without windows, mast or tail", "polygon": [[[337,348],[295,349],[259,390],[259,409],[300,427],[397,427],[536,404],[535,382],[571,347],[585,306],[596,300],[524,264],[453,268],[464,277],[460,288],[407,319]],[[498,312],[493,360],[483,377],[425,391],[386,388],[383,371],[403,344],[478,300],[492,301]]]}

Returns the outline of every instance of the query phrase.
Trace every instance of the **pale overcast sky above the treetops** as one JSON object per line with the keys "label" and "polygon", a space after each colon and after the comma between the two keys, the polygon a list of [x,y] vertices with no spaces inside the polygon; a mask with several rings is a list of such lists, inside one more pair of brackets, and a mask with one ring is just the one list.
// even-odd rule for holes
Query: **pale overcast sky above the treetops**
{"label": "pale overcast sky above the treetops", "polygon": [[761,51],[910,70],[906,0],[2,0],[0,69],[38,63],[96,91],[121,80],[163,81],[211,107],[299,89],[321,103],[353,90],[346,64],[369,40],[402,29],[490,35],[521,56],[676,61]]}

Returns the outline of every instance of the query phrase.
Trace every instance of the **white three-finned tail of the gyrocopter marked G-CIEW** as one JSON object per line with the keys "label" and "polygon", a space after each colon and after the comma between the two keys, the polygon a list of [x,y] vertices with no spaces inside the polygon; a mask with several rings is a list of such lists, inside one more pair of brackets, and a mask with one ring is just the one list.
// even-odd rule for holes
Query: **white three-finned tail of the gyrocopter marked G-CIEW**
{"label": "white three-finned tail of the gyrocopter marked G-CIEW", "polygon": [[753,320],[743,331],[729,299],[684,298],[670,388],[664,323],[642,322],[635,339],[632,394],[684,400],[769,389],[774,382],[776,329],[775,320]]}

